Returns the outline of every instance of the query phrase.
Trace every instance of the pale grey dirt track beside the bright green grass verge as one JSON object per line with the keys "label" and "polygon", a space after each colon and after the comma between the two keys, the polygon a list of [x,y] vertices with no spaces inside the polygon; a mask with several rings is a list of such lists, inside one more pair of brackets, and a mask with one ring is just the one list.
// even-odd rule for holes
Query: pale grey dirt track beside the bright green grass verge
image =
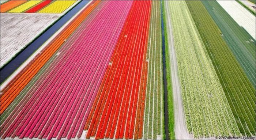
{"label": "pale grey dirt track beside the bright green grass verge", "polygon": [[[165,1],[166,13],[169,13],[169,8],[167,8],[167,1]],[[176,139],[193,139],[192,135],[188,133],[187,126],[185,122],[184,109],[181,97],[181,88],[178,78],[178,65],[177,58],[174,48],[174,39],[172,35],[172,25],[171,18],[169,14],[166,14],[166,29],[167,29],[167,41],[169,44],[169,54],[170,54],[170,67],[171,67],[171,77],[172,77],[172,89],[173,89],[173,102],[174,102],[174,131]]]}

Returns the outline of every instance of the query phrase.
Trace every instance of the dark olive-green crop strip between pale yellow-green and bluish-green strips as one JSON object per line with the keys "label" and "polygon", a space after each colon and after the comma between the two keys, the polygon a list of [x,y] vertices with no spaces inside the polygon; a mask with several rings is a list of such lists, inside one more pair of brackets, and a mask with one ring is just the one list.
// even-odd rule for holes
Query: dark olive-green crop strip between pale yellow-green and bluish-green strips
{"label": "dark olive-green crop strip between pale yellow-green and bluish-green strips", "polygon": [[255,135],[255,88],[222,38],[222,32],[201,1],[187,1],[207,53],[243,135]]}

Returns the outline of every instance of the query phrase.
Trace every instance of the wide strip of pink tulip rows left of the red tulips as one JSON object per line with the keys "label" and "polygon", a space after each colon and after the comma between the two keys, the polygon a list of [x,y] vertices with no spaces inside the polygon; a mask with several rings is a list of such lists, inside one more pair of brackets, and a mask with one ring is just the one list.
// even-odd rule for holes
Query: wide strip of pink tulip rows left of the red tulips
{"label": "wide strip of pink tulip rows left of the red tulips", "polygon": [[[95,2],[94,5],[97,5],[97,3]],[[48,139],[52,137],[57,137],[57,139],[67,137],[70,139],[76,135],[81,136],[86,116],[88,116],[95,97],[94,93],[98,91],[97,88],[101,83],[104,69],[108,65],[107,62],[109,62],[113,46],[121,31],[120,26],[123,26],[125,15],[127,15],[129,9],[127,8],[129,5],[119,2],[120,6],[116,10],[107,12],[110,7],[113,7],[113,4],[114,1],[102,2],[101,6],[95,10],[96,16],[92,15],[90,16],[93,17],[91,20],[85,20],[86,22],[80,25],[80,29],[77,29],[78,33],[75,32],[70,39],[65,41],[64,46],[56,52],[57,54],[53,55],[53,57],[57,55],[56,60],[53,60],[46,72],[42,73],[40,79],[34,83],[37,88],[30,87],[31,90],[27,91],[26,95],[30,94],[31,96],[26,103],[28,108],[23,107],[19,113],[19,116],[23,113],[23,117],[16,117],[15,121],[12,122],[14,127],[9,127],[10,130],[7,131],[9,133],[5,133],[7,137],[14,130],[15,132],[11,136],[14,137],[17,134],[16,136],[19,136],[19,138],[39,136],[39,139],[46,137]],[[115,2],[115,4],[117,3]],[[127,10],[124,11],[123,9]],[[119,18],[113,24],[113,19],[116,19],[116,16],[120,16],[120,14],[123,15],[123,18]],[[107,21],[103,17],[111,18],[108,18]],[[98,27],[95,26],[96,23]],[[93,34],[95,32],[98,34]],[[107,32],[108,34],[106,34]],[[86,46],[90,48],[86,48]],[[62,50],[62,48],[68,48],[68,50]],[[78,51],[79,49],[80,51]],[[99,52],[96,50],[99,50]],[[78,58],[80,58],[79,62],[77,61]],[[83,59],[86,61],[82,61]],[[71,83],[72,81],[77,82]],[[45,88],[46,85],[48,85],[48,88]],[[88,100],[86,100],[87,98]],[[35,108],[33,109],[33,105],[29,102],[35,102],[35,105],[39,104],[40,106],[35,107],[34,105]],[[30,107],[32,109],[28,110]],[[65,112],[62,110],[65,110]],[[73,112],[73,110],[76,110],[76,112]],[[27,115],[24,114],[24,111]],[[33,116],[34,114],[36,115]],[[69,118],[72,119],[69,120]],[[25,124],[15,124],[15,122],[22,120],[25,121]],[[52,120],[58,121],[52,122]],[[3,137],[5,137],[5,134]]]}

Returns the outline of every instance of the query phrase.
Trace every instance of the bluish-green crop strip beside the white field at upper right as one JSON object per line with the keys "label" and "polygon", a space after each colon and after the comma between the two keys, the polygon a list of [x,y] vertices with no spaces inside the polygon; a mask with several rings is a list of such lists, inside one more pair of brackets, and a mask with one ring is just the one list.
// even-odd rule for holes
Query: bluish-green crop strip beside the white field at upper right
{"label": "bluish-green crop strip beside the white field at upper right", "polygon": [[202,3],[222,31],[222,37],[255,87],[255,39],[239,26],[217,1],[203,0]]}

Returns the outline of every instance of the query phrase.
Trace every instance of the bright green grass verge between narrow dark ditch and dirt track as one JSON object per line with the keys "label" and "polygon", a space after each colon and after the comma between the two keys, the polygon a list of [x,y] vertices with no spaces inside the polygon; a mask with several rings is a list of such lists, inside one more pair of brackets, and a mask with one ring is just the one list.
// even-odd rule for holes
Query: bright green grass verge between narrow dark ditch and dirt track
{"label": "bright green grass verge between narrow dark ditch and dirt track", "polygon": [[165,5],[162,2],[163,8],[163,24],[165,31],[165,62],[166,62],[166,76],[167,76],[167,92],[168,92],[168,117],[169,117],[169,136],[170,139],[175,139],[174,133],[174,107],[173,107],[173,92],[172,92],[172,79],[171,79],[171,68],[170,68],[170,56],[169,56],[169,46],[167,42],[167,31],[166,31],[166,17],[165,17]]}

